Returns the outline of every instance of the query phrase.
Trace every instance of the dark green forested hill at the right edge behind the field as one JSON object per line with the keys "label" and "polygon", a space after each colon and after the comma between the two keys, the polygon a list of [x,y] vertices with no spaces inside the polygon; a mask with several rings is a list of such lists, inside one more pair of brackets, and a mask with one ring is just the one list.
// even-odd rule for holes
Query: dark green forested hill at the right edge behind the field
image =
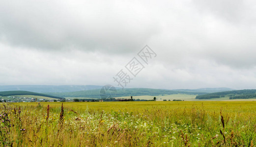
{"label": "dark green forested hill at the right edge behind the field", "polygon": [[211,98],[223,98],[229,97],[229,99],[247,99],[256,98],[256,89],[245,89],[245,90],[233,90],[218,93],[210,93],[199,95],[196,99],[211,99]]}

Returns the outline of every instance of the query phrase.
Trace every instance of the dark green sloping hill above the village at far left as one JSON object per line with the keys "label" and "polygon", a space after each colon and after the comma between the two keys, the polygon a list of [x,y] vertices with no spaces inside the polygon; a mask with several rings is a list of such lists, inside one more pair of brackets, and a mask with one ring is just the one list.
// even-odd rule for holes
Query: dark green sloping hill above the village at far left
{"label": "dark green sloping hill above the village at far left", "polygon": [[29,92],[29,91],[3,91],[3,92],[0,92],[1,97],[19,96],[19,95],[33,95],[33,96],[43,96],[43,97],[48,97],[48,98],[63,99],[61,97],[56,97],[56,96],[51,96],[51,95],[46,95],[46,94],[40,94],[40,93],[34,93],[34,92]]}

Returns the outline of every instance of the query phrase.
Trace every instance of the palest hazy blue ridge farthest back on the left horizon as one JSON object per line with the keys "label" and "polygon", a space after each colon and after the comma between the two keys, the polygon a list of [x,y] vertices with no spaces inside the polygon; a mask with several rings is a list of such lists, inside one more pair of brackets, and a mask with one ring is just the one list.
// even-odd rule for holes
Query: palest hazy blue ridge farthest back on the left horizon
{"label": "palest hazy blue ridge farthest back on the left horizon", "polygon": [[35,93],[61,93],[83,90],[101,89],[97,85],[4,85],[0,86],[0,91],[30,91]]}

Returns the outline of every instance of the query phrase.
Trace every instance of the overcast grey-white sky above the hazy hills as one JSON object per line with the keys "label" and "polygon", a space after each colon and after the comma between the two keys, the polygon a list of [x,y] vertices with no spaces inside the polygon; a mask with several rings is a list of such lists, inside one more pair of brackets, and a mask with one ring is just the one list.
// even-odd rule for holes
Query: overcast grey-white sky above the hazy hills
{"label": "overcast grey-white sky above the hazy hills", "polygon": [[0,0],[0,85],[117,86],[145,45],[127,88],[256,89],[255,0]]}

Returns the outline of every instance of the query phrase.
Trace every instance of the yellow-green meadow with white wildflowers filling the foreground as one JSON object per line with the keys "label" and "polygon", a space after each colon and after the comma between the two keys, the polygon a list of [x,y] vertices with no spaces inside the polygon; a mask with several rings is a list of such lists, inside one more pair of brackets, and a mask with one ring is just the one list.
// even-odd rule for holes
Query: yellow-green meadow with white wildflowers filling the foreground
{"label": "yellow-green meadow with white wildflowers filling the foreground", "polygon": [[[256,145],[255,101],[0,103],[3,147]],[[49,105],[49,107],[48,107]]]}

